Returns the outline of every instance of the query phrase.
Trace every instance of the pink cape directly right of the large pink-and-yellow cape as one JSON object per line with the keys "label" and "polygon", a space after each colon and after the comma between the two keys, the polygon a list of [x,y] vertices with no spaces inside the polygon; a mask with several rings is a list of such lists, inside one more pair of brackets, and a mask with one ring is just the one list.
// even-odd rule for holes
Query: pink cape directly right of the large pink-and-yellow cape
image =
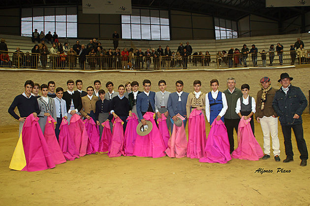
{"label": "pink cape directly right of the large pink-and-yellow cape", "polygon": [[66,162],[66,160],[62,154],[62,150],[56,138],[54,127],[55,123],[56,121],[53,119],[51,115],[47,117],[44,130],[44,137],[46,139],[46,143],[48,145],[50,153],[52,154],[52,158],[55,164],[61,164]]}

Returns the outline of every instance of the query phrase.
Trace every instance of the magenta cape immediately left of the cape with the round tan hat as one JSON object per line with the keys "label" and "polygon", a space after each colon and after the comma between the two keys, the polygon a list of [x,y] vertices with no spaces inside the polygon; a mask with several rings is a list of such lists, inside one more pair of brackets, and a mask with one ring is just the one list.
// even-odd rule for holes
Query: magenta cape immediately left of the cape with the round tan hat
{"label": "magenta cape immediately left of the cape with the round tan hat", "polygon": [[135,113],[131,113],[132,116],[128,117],[127,126],[124,134],[124,152],[126,156],[132,156],[134,143],[137,138],[137,126],[139,124],[138,117]]}

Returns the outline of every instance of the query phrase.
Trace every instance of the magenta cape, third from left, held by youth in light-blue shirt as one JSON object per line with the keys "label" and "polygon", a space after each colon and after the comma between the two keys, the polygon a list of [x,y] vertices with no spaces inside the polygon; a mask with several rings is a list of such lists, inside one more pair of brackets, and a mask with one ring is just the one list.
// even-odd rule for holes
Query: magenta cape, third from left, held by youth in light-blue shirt
{"label": "magenta cape, third from left, held by youth in light-blue shirt", "polygon": [[62,149],[62,154],[66,160],[74,160],[75,158],[79,158],[79,151],[75,148],[73,139],[69,133],[68,121],[64,118],[62,118],[62,123],[60,125],[58,142]]}

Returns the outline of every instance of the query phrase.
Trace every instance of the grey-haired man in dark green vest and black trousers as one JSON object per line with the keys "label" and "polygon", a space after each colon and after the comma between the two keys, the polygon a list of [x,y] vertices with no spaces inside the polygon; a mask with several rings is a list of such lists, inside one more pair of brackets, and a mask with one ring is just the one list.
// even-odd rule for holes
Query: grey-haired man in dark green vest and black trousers
{"label": "grey-haired man in dark green vest and black trousers", "polygon": [[227,79],[228,89],[223,91],[226,96],[228,109],[224,115],[225,127],[227,129],[229,144],[230,144],[230,154],[234,151],[234,129],[238,132],[238,125],[240,117],[236,113],[237,100],[242,97],[242,92],[240,89],[236,88],[236,80],[233,77]]}

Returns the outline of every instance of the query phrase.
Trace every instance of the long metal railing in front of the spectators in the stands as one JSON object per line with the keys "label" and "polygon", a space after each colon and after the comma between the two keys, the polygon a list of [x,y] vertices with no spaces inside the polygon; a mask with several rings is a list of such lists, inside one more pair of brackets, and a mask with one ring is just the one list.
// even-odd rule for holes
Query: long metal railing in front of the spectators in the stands
{"label": "long metal railing in front of the spectators in the stands", "polygon": [[310,51],[190,56],[108,56],[0,52],[0,66],[66,70],[167,70],[310,64]]}

